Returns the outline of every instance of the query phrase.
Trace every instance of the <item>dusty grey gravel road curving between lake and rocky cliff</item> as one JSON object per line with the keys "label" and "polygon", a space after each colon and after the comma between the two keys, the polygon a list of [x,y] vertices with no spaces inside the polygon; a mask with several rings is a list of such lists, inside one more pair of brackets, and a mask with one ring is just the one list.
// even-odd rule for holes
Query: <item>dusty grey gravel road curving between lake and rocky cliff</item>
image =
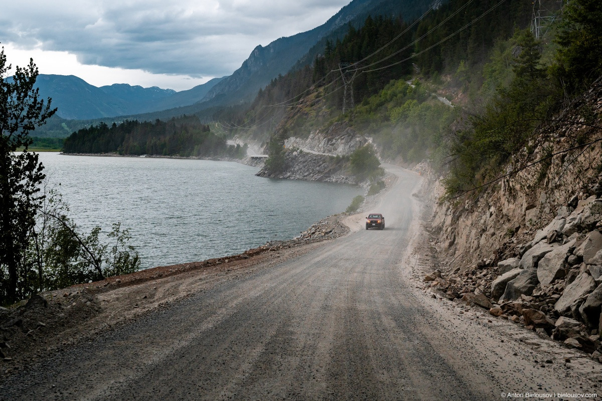
{"label": "dusty grey gravel road curving between lake and rocky cliff", "polygon": [[0,382],[0,399],[502,400],[508,393],[597,393],[600,365],[585,354],[420,288],[411,249],[427,246],[412,197],[421,178],[386,168],[399,179],[370,210],[385,215],[385,230],[365,230],[357,216],[348,236],[284,262],[220,275],[205,287],[170,278],[189,296],[36,361]]}

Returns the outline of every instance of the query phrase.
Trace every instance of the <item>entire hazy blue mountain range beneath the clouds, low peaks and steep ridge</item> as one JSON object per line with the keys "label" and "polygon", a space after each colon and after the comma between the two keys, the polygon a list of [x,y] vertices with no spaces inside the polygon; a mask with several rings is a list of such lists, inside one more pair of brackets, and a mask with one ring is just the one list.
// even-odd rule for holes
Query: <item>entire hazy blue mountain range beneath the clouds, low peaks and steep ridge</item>
{"label": "entire hazy blue mountain range beneath the clouds, low peaks and steep ridge", "polygon": [[98,88],[76,76],[40,75],[37,81],[40,94],[52,97],[52,105],[58,107],[60,118],[55,118],[54,124],[37,129],[36,135],[68,135],[75,127],[98,123],[99,119],[148,121],[247,103],[279,74],[312,63],[315,55],[323,52],[326,41],[342,38],[349,24],[358,28],[368,15],[414,20],[437,2],[441,0],[353,0],[311,31],[255,47],[232,75],[212,79],[187,91],[128,84]]}

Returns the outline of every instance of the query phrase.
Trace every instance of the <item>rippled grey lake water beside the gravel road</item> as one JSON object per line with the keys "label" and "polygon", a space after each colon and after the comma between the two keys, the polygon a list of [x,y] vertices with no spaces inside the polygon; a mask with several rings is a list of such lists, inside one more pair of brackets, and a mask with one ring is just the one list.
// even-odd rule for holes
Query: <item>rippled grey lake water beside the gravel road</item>
{"label": "rippled grey lake water beside the gravel road", "polygon": [[256,177],[257,168],[202,160],[42,153],[51,185],[89,231],[129,227],[142,268],[225,256],[288,239],[343,212],[361,191]]}

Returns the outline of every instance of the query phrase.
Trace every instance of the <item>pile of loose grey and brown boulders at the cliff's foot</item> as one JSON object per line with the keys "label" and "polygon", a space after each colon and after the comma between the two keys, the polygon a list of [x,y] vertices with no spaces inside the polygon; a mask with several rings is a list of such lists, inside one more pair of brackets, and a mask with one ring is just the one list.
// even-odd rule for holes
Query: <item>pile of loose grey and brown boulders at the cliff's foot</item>
{"label": "pile of loose grey and brown boulders at the cliff's foot", "polygon": [[[424,277],[452,301],[487,308],[602,362],[602,174],[514,256]],[[506,253],[507,255],[507,253]]]}

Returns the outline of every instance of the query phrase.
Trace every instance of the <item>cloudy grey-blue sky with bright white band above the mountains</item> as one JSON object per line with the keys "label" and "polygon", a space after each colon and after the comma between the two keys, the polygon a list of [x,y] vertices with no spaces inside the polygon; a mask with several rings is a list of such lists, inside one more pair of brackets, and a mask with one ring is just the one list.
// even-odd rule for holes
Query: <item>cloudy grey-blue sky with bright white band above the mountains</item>
{"label": "cloudy grey-blue sky with bright white band above the mountains", "polygon": [[326,22],[350,0],[5,1],[8,62],[96,86],[185,90],[230,75],[261,44]]}

